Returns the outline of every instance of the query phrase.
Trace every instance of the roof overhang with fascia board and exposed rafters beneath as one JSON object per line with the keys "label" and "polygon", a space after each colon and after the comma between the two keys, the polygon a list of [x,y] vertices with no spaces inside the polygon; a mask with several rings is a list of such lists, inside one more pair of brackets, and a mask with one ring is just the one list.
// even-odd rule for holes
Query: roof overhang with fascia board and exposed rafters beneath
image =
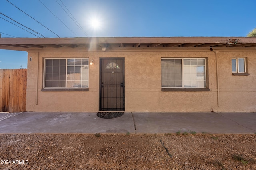
{"label": "roof overhang with fascia board and exposed rafters beneath", "polygon": [[250,48],[256,37],[89,37],[89,38],[0,38],[0,49],[28,51],[44,48]]}

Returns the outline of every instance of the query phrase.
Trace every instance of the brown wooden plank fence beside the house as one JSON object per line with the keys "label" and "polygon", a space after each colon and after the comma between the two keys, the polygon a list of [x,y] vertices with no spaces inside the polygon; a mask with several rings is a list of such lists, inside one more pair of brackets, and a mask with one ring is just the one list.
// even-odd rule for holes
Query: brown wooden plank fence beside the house
{"label": "brown wooden plank fence beside the house", "polygon": [[0,69],[0,111],[26,111],[27,69]]}

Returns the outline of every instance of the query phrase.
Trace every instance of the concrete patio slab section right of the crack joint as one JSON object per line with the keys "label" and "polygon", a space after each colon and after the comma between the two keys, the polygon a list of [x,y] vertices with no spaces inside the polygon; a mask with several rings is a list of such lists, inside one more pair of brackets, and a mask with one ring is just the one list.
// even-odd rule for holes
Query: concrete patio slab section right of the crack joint
{"label": "concrete patio slab section right of the crack joint", "polygon": [[133,113],[137,133],[255,133],[256,113]]}

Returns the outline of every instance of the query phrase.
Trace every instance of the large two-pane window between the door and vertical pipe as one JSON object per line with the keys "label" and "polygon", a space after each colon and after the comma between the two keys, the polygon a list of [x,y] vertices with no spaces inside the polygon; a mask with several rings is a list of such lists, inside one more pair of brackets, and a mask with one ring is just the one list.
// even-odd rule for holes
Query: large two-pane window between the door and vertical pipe
{"label": "large two-pane window between the door and vertical pipe", "polygon": [[205,58],[162,58],[162,88],[206,88]]}

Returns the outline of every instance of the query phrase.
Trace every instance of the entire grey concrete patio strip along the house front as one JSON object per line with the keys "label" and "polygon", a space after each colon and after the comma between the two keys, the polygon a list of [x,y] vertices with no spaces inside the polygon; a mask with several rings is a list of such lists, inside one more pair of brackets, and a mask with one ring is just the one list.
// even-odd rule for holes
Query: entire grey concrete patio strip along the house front
{"label": "entire grey concrete patio strip along the house front", "polygon": [[[1,117],[0,113],[0,117]],[[6,114],[6,113],[5,113]],[[11,114],[11,113],[9,113]],[[97,113],[22,112],[0,121],[0,133],[154,134],[195,131],[214,134],[256,133],[256,113],[139,113],[114,119]],[[13,115],[13,114],[12,114]],[[2,115],[6,117],[6,115]]]}

